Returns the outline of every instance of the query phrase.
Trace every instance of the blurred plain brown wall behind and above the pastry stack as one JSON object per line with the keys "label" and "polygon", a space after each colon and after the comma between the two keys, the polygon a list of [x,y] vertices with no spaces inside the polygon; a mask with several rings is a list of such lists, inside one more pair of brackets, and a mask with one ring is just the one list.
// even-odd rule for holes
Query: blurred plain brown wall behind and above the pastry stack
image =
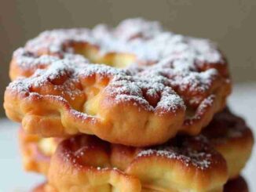
{"label": "blurred plain brown wall behind and above the pastry stack", "polygon": [[[233,81],[256,82],[255,0],[0,0],[0,103],[13,50],[39,32],[59,27],[118,24],[127,17],[159,20],[181,34],[218,42]],[[4,116],[0,107],[0,117]]]}

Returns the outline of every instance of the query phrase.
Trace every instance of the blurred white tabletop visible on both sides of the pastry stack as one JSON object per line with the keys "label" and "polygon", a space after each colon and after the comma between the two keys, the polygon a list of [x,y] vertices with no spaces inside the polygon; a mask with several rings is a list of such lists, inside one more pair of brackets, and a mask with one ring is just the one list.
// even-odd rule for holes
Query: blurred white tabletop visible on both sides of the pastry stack
{"label": "blurred white tabletop visible on both sides of the pastry stack", "polygon": [[[236,85],[229,99],[229,106],[247,120],[256,136],[256,84]],[[0,192],[27,191],[43,178],[22,170],[16,132],[19,125],[0,120]],[[251,192],[256,191],[256,147],[251,160],[243,170]]]}

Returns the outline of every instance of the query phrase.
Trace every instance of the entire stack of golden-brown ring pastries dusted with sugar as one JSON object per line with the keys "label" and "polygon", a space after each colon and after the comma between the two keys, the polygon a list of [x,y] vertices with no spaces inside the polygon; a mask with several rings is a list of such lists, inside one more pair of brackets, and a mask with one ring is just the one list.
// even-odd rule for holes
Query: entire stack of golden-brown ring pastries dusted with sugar
{"label": "entire stack of golden-brown ring pastries dusted with sugar", "polygon": [[41,192],[248,191],[254,138],[217,45],[154,21],[45,31],[13,53],[5,112]]}

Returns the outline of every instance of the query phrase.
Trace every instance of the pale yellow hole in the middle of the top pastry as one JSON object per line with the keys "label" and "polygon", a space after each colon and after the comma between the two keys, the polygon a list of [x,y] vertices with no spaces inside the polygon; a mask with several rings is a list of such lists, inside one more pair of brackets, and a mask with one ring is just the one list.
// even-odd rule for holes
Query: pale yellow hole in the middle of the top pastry
{"label": "pale yellow hole in the middle of the top pastry", "polygon": [[116,68],[126,68],[135,62],[136,57],[130,53],[101,53],[96,45],[76,43],[75,53],[85,56],[91,63],[103,63]]}

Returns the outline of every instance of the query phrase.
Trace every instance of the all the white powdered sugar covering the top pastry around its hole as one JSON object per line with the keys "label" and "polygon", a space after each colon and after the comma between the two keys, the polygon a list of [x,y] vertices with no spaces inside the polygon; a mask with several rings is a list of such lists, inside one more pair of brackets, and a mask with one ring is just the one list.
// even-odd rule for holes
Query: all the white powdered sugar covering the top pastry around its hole
{"label": "all the white powdered sugar covering the top pastry around its hole", "polygon": [[[102,55],[131,53],[136,57],[132,66],[136,67],[120,70],[104,63],[92,64],[75,54],[73,45],[81,42],[97,45]],[[19,67],[37,70],[30,78],[12,82],[8,87],[12,91],[52,94],[70,103],[85,94],[82,81],[97,76],[108,78],[104,93],[116,104],[132,103],[139,110],[158,115],[185,110],[185,103],[196,100],[193,96],[209,96],[214,81],[221,78],[214,64],[225,63],[217,46],[209,40],[174,34],[158,22],[140,18],[124,20],[115,28],[101,24],[92,30],[45,31],[13,57]],[[213,65],[203,68],[206,63]],[[41,92],[46,85],[53,89]],[[196,107],[202,100],[195,102]],[[88,117],[81,114],[82,110],[71,111],[75,117]]]}

